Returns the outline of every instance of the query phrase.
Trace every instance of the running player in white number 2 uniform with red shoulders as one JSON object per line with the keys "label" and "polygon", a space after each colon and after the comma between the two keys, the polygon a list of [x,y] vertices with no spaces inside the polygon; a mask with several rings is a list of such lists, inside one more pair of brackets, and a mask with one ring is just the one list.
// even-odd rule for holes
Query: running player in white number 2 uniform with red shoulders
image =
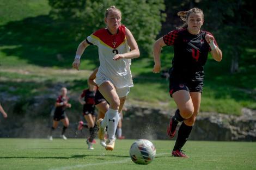
{"label": "running player in white number 2 uniform with red shoulders", "polygon": [[96,45],[99,49],[100,67],[96,74],[96,84],[99,91],[107,99],[109,109],[104,119],[98,119],[99,137],[104,138],[108,126],[106,150],[114,149],[114,134],[117,129],[119,112],[122,110],[126,96],[133,86],[130,71],[131,59],[139,57],[139,49],[132,33],[121,25],[121,11],[115,6],[105,12],[107,28],[99,29],[77,48],[75,61],[72,66],[78,70],[80,58],[84,49]]}

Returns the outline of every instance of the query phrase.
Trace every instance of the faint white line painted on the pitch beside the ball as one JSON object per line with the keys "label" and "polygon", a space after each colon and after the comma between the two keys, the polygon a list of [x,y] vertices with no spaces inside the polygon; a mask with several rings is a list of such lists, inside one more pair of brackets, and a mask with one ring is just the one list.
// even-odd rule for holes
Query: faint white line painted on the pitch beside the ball
{"label": "faint white line painted on the pitch beside the ball", "polygon": [[[170,153],[156,154],[156,156],[167,155],[167,154],[169,155]],[[88,166],[107,165],[107,164],[112,164],[112,163],[125,163],[130,160],[131,160],[130,158],[126,158],[126,159],[119,160],[119,161],[106,161],[106,162],[101,162],[101,163],[88,163],[88,164],[80,164],[80,165],[74,165],[74,166],[63,166],[63,167],[58,167],[58,168],[51,168],[48,170],[69,170],[69,169],[83,168],[83,167],[88,167]]]}

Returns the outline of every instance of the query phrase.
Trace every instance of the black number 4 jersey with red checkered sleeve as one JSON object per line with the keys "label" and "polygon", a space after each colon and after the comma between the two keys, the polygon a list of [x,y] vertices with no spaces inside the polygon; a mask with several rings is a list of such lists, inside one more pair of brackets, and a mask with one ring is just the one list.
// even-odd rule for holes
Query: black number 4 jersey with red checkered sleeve
{"label": "black number 4 jersey with red checkered sleeve", "polygon": [[[187,29],[176,29],[163,36],[168,46],[174,46],[174,58],[170,74],[178,79],[203,80],[204,65],[211,48],[205,40],[209,32],[193,35]],[[217,45],[216,41],[215,44]]]}

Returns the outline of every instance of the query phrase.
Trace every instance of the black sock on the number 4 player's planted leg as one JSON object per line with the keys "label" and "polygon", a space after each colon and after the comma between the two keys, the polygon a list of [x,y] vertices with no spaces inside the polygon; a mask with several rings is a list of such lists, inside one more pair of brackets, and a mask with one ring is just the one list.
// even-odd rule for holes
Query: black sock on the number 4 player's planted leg
{"label": "black sock on the number 4 player's planted leg", "polygon": [[193,127],[186,125],[184,122],[181,124],[173,150],[181,150],[188,136],[190,136],[192,128]]}

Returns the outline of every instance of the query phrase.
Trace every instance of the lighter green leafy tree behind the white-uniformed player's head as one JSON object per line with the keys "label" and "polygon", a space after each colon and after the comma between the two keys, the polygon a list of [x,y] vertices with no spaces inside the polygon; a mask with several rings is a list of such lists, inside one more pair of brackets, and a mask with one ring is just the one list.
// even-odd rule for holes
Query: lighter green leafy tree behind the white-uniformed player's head
{"label": "lighter green leafy tree behind the white-uniformed player's head", "polygon": [[[115,5],[122,12],[122,23],[131,30],[139,47],[145,52],[152,51],[152,44],[161,30],[161,22],[166,15],[163,0],[49,0],[53,18],[72,20],[76,39],[84,38],[95,30],[105,27],[104,14],[108,7]],[[82,33],[82,34],[81,34]],[[84,35],[86,33],[87,35]]]}

